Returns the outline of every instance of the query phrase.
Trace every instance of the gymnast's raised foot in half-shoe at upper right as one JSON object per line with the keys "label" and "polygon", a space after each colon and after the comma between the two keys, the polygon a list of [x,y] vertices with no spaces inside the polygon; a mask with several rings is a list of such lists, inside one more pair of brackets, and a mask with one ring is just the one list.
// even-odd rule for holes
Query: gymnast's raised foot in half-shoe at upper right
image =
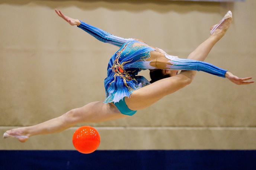
{"label": "gymnast's raised foot in half-shoe at upper right", "polygon": [[210,35],[216,37],[218,40],[221,39],[227,32],[230,23],[232,21],[232,13],[228,11],[223,19],[216,25],[212,26],[210,29]]}

